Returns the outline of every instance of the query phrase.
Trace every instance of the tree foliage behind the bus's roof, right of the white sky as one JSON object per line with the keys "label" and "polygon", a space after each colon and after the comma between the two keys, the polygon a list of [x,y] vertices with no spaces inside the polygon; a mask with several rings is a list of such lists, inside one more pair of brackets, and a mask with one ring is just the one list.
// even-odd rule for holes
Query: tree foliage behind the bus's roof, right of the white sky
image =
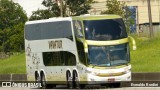
{"label": "tree foliage behind the bus's roof, right of the white sky", "polygon": [[[91,9],[93,0],[44,0],[42,5],[47,9],[34,11],[29,20],[48,19],[50,17],[59,17],[61,8],[63,16],[76,16],[88,13]],[[62,7],[61,7],[62,6]]]}

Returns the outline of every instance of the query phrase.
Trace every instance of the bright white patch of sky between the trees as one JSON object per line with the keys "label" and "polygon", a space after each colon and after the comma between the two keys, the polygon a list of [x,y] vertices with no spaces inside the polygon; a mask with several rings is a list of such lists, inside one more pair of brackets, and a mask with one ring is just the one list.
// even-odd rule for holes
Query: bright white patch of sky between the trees
{"label": "bright white patch of sky between the trees", "polygon": [[32,15],[32,11],[36,11],[39,9],[44,9],[45,7],[41,4],[43,0],[13,0],[15,3],[19,3],[23,10],[26,11],[27,16]]}

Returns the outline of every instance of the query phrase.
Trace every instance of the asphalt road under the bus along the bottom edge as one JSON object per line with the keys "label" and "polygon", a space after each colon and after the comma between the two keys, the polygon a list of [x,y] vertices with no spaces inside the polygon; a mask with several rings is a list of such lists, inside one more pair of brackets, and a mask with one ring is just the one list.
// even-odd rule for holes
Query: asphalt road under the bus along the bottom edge
{"label": "asphalt road under the bus along the bottom edge", "polygon": [[[124,85],[123,85],[124,84]],[[87,85],[85,89],[99,89],[99,90],[160,90],[160,83],[159,82],[126,82],[123,83],[121,87],[114,88],[114,87],[105,87],[101,85]],[[125,86],[128,84],[127,86]],[[130,86],[129,86],[130,85]],[[29,86],[29,87],[28,87]],[[0,90],[39,90],[36,85],[32,83],[16,83],[12,82],[3,82],[0,86]],[[50,88],[47,90],[68,90],[66,85],[57,85],[55,88]],[[41,89],[42,90],[42,89]],[[84,90],[84,89],[83,89]]]}

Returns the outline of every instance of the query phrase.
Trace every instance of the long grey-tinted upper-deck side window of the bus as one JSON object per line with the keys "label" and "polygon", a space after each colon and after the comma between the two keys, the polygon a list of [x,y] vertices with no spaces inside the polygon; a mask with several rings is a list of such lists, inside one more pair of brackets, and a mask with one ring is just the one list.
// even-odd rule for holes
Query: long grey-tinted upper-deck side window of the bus
{"label": "long grey-tinted upper-deck side window of the bus", "polygon": [[72,39],[71,22],[59,21],[26,25],[25,38],[27,40],[41,40],[54,38]]}

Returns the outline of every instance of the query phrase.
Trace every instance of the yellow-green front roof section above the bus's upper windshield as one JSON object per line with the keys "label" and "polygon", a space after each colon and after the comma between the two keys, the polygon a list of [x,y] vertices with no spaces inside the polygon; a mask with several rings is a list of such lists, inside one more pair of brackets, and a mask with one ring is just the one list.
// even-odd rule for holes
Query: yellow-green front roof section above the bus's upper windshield
{"label": "yellow-green front roof section above the bus's upper windshield", "polygon": [[74,20],[99,20],[99,19],[115,19],[115,18],[122,18],[119,15],[113,15],[113,14],[108,14],[108,15],[82,15],[82,16],[75,16],[72,17]]}

